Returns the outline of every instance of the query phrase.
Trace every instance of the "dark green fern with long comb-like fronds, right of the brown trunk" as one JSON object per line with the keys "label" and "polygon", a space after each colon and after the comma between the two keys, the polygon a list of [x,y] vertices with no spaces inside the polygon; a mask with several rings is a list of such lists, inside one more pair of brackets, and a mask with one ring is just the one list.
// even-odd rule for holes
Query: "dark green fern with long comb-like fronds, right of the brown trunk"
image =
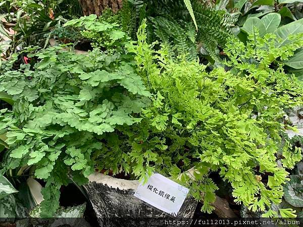
{"label": "dark green fern with long comb-like fronds, right of the brown trunk", "polygon": [[[188,4],[189,1],[185,2]],[[217,46],[225,46],[227,38],[232,35],[230,28],[235,19],[226,11],[215,10],[198,0],[191,1],[191,8],[187,4],[185,5],[181,0],[147,1],[146,15],[153,18],[150,21],[154,26],[156,35],[154,39],[164,42],[166,40],[162,39],[163,36],[159,34],[166,34],[173,38],[170,46],[177,46],[177,52],[182,53],[184,52],[183,43],[193,46],[192,37],[195,37],[196,45],[198,43],[202,45],[214,60],[218,60]],[[170,26],[167,26],[167,21],[164,22],[164,17],[170,21]],[[181,33],[183,35],[179,36]],[[186,33],[190,33],[189,39],[185,38]],[[179,37],[179,39],[175,37]],[[178,47],[181,48],[178,49]],[[193,56],[191,47],[186,50]]]}

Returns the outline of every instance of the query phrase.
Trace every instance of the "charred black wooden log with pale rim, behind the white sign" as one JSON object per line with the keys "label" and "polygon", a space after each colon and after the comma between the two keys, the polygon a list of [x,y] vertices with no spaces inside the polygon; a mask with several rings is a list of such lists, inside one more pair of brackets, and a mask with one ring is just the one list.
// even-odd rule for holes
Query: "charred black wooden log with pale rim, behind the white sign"
{"label": "charred black wooden log with pale rim, behind the white sign", "polygon": [[[177,217],[172,217],[135,197],[133,194],[138,185],[138,181],[103,174],[89,176],[85,190],[100,226],[125,226],[126,223],[128,226],[164,226],[165,219],[178,220],[193,216],[197,202],[192,197],[187,197]],[[182,226],[189,226],[189,222]]]}

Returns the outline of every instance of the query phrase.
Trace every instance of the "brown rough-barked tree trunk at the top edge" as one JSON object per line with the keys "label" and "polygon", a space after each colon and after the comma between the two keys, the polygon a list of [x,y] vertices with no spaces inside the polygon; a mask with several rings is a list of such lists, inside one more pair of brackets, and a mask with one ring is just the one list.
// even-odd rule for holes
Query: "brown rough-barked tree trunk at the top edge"
{"label": "brown rough-barked tree trunk at the top edge", "polygon": [[96,14],[100,16],[106,8],[111,8],[114,13],[122,7],[123,0],[79,0],[84,15]]}

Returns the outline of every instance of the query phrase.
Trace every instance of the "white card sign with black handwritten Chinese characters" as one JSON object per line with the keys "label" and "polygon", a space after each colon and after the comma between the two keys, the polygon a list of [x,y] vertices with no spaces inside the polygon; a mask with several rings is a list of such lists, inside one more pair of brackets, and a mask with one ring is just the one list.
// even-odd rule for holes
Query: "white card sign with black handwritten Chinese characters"
{"label": "white card sign with black handwritten Chinese characters", "polygon": [[145,185],[139,184],[134,196],[173,216],[177,216],[189,189],[161,174],[152,175]]}

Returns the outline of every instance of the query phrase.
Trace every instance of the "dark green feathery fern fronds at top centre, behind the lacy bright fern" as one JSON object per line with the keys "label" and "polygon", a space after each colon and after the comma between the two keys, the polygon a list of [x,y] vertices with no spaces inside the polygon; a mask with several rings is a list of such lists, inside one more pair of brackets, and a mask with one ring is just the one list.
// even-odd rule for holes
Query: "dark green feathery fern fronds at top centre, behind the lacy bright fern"
{"label": "dark green feathery fern fronds at top centre, behind the lacy bright fern", "polygon": [[141,20],[138,18],[142,18],[142,15],[154,18],[147,24],[148,39],[160,39],[170,43],[170,46],[176,45],[178,54],[188,50],[191,51],[189,55],[195,55],[197,47],[193,48],[193,45],[200,43],[214,60],[218,60],[216,50],[218,46],[225,46],[227,38],[232,35],[230,28],[235,22],[228,12],[215,10],[201,0],[128,0],[127,4],[132,14],[128,15],[128,20],[124,19],[126,24],[138,26]]}

